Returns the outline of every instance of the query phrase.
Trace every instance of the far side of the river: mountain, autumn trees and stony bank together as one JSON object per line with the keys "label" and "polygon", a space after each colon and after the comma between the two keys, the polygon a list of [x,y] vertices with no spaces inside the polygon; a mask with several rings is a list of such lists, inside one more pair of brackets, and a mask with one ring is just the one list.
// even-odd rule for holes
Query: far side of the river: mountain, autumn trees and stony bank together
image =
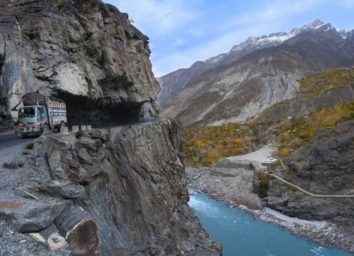
{"label": "far side of the river: mountain, autumn trees and stony bank together", "polygon": [[[193,73],[181,88],[178,83],[209,60],[159,78],[163,88],[171,84],[175,90],[168,97],[161,90],[161,115],[185,127],[191,187],[322,245],[354,252],[352,33],[339,38],[330,24],[314,24],[276,45]],[[235,49],[241,48],[230,52]],[[273,150],[256,161],[248,157],[264,147]],[[261,165],[267,158],[279,161]],[[267,209],[326,227],[292,226],[262,216]]]}

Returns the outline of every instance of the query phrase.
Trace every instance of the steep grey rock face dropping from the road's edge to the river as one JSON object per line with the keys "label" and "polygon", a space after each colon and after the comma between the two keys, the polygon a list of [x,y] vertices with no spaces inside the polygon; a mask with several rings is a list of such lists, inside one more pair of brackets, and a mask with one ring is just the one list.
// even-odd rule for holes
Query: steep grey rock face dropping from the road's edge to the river
{"label": "steep grey rock face dropping from the road's edge to the river", "polygon": [[38,138],[39,192],[71,202],[50,222],[74,255],[221,255],[187,204],[182,134],[163,120]]}

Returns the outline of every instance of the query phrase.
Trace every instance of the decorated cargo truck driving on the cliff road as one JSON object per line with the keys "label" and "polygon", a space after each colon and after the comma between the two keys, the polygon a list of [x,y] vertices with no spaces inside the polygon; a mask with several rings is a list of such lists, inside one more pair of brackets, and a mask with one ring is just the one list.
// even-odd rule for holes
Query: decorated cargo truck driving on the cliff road
{"label": "decorated cargo truck driving on the cliff road", "polygon": [[67,106],[61,99],[30,92],[22,96],[22,101],[23,107],[18,109],[16,135],[40,135],[45,130],[60,130],[67,126]]}

